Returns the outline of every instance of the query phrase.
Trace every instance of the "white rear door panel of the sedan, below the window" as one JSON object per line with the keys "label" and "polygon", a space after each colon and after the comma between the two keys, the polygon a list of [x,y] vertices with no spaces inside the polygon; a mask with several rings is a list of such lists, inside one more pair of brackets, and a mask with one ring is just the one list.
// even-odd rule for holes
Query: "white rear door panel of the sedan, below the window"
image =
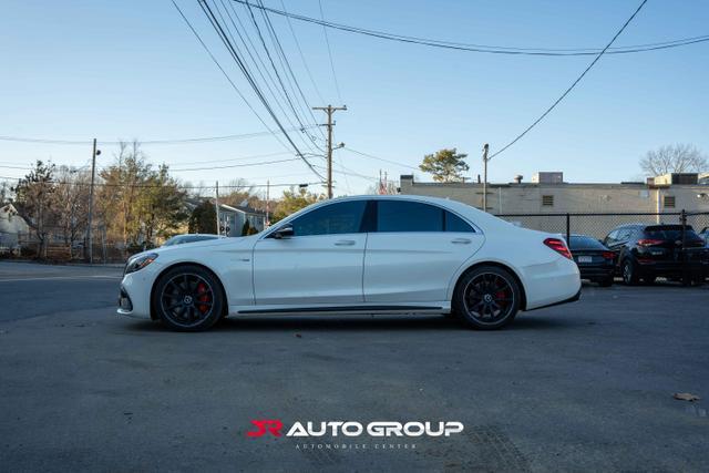
{"label": "white rear door panel of the sedan, below the window", "polygon": [[460,266],[483,244],[480,233],[372,233],[364,255],[366,302],[445,300]]}

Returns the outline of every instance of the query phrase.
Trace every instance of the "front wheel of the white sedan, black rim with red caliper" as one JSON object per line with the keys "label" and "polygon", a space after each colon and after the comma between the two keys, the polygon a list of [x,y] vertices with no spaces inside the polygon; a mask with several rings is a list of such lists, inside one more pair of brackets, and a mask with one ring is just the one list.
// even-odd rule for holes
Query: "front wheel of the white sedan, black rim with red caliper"
{"label": "front wheel of the white sedan, black rim with red caliper", "polygon": [[222,284],[201,266],[178,266],[157,280],[153,291],[153,310],[171,330],[203,331],[212,328],[224,313]]}

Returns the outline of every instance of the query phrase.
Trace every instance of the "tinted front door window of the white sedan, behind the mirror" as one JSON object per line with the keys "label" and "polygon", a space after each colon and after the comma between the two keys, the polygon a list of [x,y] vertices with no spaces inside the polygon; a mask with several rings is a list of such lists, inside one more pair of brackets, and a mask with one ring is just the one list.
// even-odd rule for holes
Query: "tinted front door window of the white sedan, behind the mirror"
{"label": "tinted front door window of the white sedan, behind the mirror", "polygon": [[295,236],[356,234],[361,232],[366,200],[326,205],[292,220]]}

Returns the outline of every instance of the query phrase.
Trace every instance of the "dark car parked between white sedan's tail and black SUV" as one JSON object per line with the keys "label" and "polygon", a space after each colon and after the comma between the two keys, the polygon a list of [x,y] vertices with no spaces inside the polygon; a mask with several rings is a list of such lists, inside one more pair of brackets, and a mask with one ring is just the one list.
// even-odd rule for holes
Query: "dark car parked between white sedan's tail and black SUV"
{"label": "dark car parked between white sedan's tail and black SUV", "polygon": [[615,254],[603,243],[587,235],[572,235],[568,241],[582,279],[607,287],[613,285],[616,270]]}

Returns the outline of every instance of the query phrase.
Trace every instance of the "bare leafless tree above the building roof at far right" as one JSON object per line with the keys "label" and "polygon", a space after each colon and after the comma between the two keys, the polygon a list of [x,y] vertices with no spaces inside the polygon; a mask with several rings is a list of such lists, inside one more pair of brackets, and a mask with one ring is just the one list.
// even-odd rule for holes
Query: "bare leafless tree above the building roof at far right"
{"label": "bare leafless tree above the building roof at far right", "polygon": [[668,173],[701,173],[709,171],[709,161],[697,146],[678,143],[648,151],[640,160],[640,168],[651,176]]}

